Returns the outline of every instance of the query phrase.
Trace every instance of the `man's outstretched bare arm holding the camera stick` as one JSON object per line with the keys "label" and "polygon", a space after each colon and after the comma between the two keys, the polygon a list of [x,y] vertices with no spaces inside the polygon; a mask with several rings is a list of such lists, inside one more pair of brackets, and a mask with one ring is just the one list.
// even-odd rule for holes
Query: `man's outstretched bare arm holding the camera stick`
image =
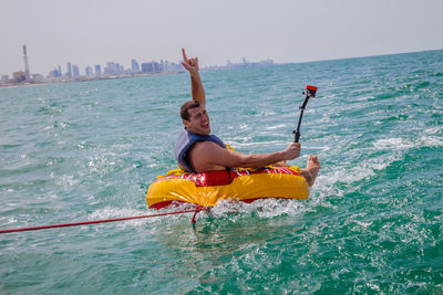
{"label": "man's outstretched bare arm holding the camera stick", "polygon": [[300,144],[290,144],[285,150],[272,154],[244,155],[219,147],[212,141],[197,143],[190,151],[190,159],[198,172],[220,170],[220,168],[262,168],[300,156]]}

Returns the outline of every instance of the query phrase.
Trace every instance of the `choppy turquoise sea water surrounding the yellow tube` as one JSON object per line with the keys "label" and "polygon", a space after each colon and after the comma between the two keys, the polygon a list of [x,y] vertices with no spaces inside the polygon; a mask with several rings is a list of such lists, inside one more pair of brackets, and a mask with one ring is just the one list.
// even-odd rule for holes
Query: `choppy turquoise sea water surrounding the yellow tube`
{"label": "choppy turquoise sea water surrounding the yellow tube", "polygon": [[[319,155],[310,199],[1,234],[1,294],[443,293],[443,51],[202,77],[241,152],[284,149],[319,87],[291,161]],[[155,213],[187,98],[185,74],[0,88],[0,229]]]}

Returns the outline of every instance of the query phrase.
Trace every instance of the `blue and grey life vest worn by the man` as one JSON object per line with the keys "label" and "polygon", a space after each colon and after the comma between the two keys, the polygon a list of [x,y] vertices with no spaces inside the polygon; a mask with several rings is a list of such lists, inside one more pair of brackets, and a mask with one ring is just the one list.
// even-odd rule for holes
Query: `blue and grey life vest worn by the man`
{"label": "blue and grey life vest worn by the man", "polygon": [[196,173],[195,169],[190,165],[188,159],[188,151],[197,141],[213,141],[219,145],[223,148],[226,148],[226,145],[215,135],[198,135],[187,131],[183,128],[178,133],[177,141],[175,141],[175,159],[178,162],[178,166],[186,172]]}

